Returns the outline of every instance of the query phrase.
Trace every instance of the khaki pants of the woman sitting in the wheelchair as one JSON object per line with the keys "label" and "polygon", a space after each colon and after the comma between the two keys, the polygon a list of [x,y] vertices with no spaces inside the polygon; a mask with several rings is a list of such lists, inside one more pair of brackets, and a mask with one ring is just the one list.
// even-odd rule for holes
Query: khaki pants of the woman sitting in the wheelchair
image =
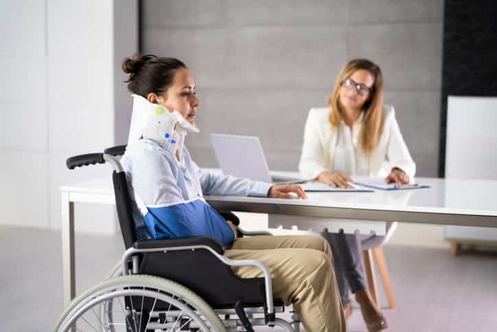
{"label": "khaki pants of the woman sitting in the wheelchair", "polygon": [[[266,264],[273,294],[292,304],[308,332],[344,332],[345,317],[333,269],[330,245],[319,236],[253,236],[226,250],[232,259]],[[241,278],[262,277],[257,267],[232,267]]]}

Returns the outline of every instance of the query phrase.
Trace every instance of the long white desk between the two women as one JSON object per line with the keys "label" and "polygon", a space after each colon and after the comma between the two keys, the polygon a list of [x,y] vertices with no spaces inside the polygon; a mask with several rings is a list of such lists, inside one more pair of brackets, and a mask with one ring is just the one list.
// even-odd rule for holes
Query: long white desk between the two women
{"label": "long white desk between the two women", "polygon": [[[431,188],[375,192],[308,192],[308,199],[205,197],[216,209],[294,216],[400,221],[497,228],[497,181],[417,178]],[[111,176],[61,186],[62,283],[67,306],[76,296],[74,203],[115,204]],[[312,225],[310,225],[312,226]],[[308,228],[307,225],[304,226]],[[321,225],[320,225],[321,227]]]}

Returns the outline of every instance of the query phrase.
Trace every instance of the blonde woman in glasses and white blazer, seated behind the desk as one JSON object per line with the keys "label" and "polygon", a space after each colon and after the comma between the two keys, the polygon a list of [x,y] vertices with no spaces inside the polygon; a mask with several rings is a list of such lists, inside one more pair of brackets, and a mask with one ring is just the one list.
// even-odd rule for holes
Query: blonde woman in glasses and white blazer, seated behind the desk
{"label": "blonde woman in glasses and white blazer, seated behind the desk", "polygon": [[[393,107],[383,104],[380,67],[365,59],[350,60],[338,74],[328,103],[329,107],[311,109],[305,122],[302,177],[343,188],[349,188],[355,176],[408,183],[416,166]],[[369,331],[385,329],[386,320],[365,281],[359,234],[325,235],[332,245],[345,315],[351,313],[351,290]]]}

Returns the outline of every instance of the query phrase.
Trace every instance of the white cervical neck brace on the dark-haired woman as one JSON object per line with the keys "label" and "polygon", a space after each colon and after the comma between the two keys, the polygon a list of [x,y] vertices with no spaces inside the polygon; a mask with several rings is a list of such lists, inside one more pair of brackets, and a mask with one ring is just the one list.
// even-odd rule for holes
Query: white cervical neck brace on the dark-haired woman
{"label": "white cervical neck brace on the dark-haired woman", "polygon": [[181,162],[185,136],[187,132],[198,133],[198,128],[190,124],[178,111],[170,112],[165,106],[152,104],[136,94],[132,97],[133,110],[128,144],[147,138],[161,144],[173,155],[177,151]]}

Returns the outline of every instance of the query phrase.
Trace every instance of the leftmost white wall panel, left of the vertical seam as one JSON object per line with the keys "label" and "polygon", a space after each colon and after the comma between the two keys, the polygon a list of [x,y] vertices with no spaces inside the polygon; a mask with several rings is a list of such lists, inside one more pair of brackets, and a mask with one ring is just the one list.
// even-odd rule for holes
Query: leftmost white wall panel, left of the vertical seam
{"label": "leftmost white wall panel, left of the vertical seam", "polygon": [[0,221],[47,227],[45,2],[2,1],[1,8]]}

